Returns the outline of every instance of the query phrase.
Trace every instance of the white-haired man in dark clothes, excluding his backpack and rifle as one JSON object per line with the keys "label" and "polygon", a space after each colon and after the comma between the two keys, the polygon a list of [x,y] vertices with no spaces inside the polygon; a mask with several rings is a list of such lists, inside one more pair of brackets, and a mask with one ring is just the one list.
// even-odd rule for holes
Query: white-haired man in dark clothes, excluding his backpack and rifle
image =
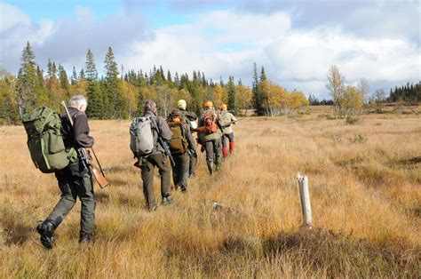
{"label": "white-haired man in dark clothes, excluding his backpack and rifle", "polygon": [[[88,102],[83,95],[75,95],[68,102],[68,112],[73,118],[73,127],[66,112],[60,115],[61,133],[67,149],[74,147],[92,147],[93,138],[89,135],[88,117],[85,110]],[[81,200],[81,223],[79,243],[89,243],[93,240],[95,225],[95,200],[91,171],[83,166],[82,160],[70,163],[61,171],[56,171],[61,198],[51,214],[38,226],[36,231],[41,235],[41,243],[51,249],[54,243],[54,230],[68,216],[75,205],[76,198]]]}

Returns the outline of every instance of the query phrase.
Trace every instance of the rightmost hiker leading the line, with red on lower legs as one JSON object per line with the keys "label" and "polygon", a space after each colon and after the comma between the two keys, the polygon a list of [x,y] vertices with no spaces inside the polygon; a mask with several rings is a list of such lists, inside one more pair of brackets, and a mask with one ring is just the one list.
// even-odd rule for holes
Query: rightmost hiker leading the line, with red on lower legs
{"label": "rightmost hiker leading the line, with red on lower legs", "polygon": [[222,104],[218,112],[218,124],[222,129],[222,155],[228,156],[228,145],[226,139],[229,140],[229,153],[234,153],[235,142],[233,124],[236,124],[237,118],[227,111],[226,104]]}

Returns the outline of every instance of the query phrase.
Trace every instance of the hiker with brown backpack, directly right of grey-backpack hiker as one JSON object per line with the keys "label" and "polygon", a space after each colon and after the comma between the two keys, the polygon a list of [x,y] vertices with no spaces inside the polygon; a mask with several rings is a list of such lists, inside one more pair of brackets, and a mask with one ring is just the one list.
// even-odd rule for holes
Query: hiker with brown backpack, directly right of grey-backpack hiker
{"label": "hiker with brown backpack, directly right of grey-backpack hiker", "polygon": [[169,141],[174,165],[172,166],[172,179],[174,187],[181,191],[187,191],[188,165],[190,156],[188,150],[194,149],[190,126],[182,119],[181,111],[178,108],[172,110],[167,119],[172,137]]}

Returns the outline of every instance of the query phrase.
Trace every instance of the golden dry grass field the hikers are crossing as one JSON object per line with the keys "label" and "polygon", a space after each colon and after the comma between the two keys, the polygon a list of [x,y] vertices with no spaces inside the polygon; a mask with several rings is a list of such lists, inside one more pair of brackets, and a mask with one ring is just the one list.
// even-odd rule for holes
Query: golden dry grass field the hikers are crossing
{"label": "golden dry grass field the hikers are crossing", "polygon": [[[1,277],[421,277],[421,118],[250,118],[237,152],[175,203],[145,210],[129,121],[92,121],[112,186],[96,188],[97,241],[77,243],[80,203],[47,251],[35,227],[60,197],[22,126],[0,127]],[[297,172],[314,228],[301,228]],[[155,194],[159,195],[155,177]],[[212,203],[226,207],[215,210]]]}

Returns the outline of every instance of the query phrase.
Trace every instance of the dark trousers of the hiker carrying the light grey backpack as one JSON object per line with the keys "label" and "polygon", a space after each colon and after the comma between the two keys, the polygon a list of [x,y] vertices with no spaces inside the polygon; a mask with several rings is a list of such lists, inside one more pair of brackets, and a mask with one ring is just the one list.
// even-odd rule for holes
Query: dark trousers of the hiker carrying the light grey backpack
{"label": "dark trousers of the hiker carrying the light grey backpack", "polygon": [[147,207],[156,206],[155,187],[154,187],[154,170],[158,168],[161,176],[161,196],[169,196],[171,187],[171,164],[168,156],[162,153],[157,155],[148,155],[142,159],[142,181],[143,194],[147,201]]}

